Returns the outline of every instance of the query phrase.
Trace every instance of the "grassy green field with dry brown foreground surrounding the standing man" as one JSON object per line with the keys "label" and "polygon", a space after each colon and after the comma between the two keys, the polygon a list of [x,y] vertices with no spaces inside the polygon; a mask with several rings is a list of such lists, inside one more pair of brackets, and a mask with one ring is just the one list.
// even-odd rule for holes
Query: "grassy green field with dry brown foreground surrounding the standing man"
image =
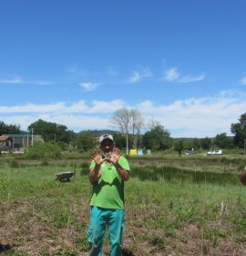
{"label": "grassy green field with dry brown foreground surrounding the standing man", "polygon": [[[124,255],[245,255],[246,187],[238,179],[243,163],[226,158],[129,162]],[[87,165],[1,161],[2,255],[87,255]],[[75,169],[71,182],[55,181],[57,172]],[[108,255],[108,240],[104,252]]]}

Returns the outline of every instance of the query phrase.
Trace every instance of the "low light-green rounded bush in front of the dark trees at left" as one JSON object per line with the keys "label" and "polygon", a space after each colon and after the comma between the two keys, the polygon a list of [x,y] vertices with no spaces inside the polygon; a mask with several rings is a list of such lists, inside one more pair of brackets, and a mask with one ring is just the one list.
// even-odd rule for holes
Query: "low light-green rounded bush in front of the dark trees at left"
{"label": "low light-green rounded bush in front of the dark trees at left", "polygon": [[61,148],[57,143],[36,143],[33,146],[30,146],[26,153],[26,158],[29,159],[46,159],[52,158],[56,159],[61,156]]}

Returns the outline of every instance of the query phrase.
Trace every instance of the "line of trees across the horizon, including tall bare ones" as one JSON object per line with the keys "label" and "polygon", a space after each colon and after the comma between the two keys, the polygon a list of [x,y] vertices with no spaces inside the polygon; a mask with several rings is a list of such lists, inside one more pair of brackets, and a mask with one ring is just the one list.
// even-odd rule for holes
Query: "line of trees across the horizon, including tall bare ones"
{"label": "line of trees across the horizon, including tall bare ones", "polygon": [[[173,138],[169,131],[159,122],[151,119],[146,122],[137,109],[119,109],[114,112],[109,120],[115,125],[113,133],[115,142],[121,149],[143,148],[152,151],[175,149],[206,149],[218,148],[243,148],[246,142],[246,112],[241,114],[238,123],[231,123],[231,133],[219,133],[214,138]],[[99,131],[81,131],[75,133],[67,129],[66,125],[37,120],[28,126],[28,131],[41,135],[44,142],[56,142],[64,150],[69,148],[87,152],[97,145],[97,137],[94,135]],[[145,131],[145,132],[143,132]],[[27,133],[21,131],[20,125],[6,124],[0,121],[0,135],[10,133]]]}

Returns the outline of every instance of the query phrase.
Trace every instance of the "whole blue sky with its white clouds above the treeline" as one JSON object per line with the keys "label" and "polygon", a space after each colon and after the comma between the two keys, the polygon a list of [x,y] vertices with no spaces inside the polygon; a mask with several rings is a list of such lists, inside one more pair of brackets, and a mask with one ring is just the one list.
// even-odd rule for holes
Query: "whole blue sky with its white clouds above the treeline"
{"label": "whole blue sky with its white clouds above the treeline", "polygon": [[0,0],[0,121],[114,129],[137,108],[173,137],[246,112],[246,2]]}

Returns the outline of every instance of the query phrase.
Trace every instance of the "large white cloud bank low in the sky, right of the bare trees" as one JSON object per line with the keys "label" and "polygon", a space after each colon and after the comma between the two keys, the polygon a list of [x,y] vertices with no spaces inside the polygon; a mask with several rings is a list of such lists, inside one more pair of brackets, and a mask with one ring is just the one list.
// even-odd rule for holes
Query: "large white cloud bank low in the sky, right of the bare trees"
{"label": "large white cloud bank low in the sky, right of the bare trees", "polygon": [[156,106],[151,101],[138,104],[146,120],[154,118],[172,136],[206,137],[231,134],[231,123],[237,123],[245,112],[246,102],[234,98],[200,98],[174,101]]}

